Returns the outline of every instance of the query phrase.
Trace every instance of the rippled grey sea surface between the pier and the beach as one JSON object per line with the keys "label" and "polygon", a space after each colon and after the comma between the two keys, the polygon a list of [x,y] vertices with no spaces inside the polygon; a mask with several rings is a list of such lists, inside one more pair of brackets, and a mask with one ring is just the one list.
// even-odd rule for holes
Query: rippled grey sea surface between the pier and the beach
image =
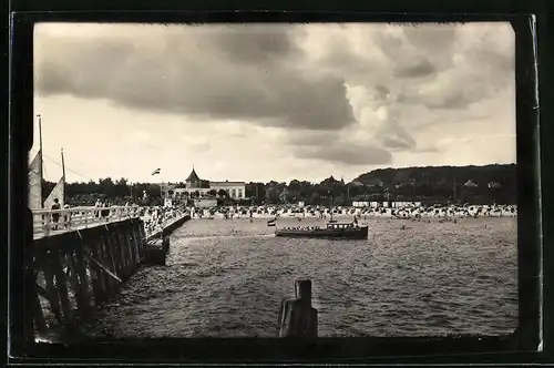
{"label": "rippled grey sea surface between the pier and the beach", "polygon": [[[368,241],[340,242],[276,238],[266,222],[186,223],[171,237],[167,266],[140,269],[86,334],[276,337],[280,299],[305,277],[321,337],[516,326],[516,218],[369,219]],[[287,222],[310,224],[278,225]]]}

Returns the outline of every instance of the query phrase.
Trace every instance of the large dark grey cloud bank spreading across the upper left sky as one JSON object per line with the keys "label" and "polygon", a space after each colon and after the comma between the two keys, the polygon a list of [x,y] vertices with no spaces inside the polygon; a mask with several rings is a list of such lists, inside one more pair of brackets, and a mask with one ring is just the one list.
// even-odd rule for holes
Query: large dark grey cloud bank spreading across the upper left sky
{"label": "large dark grey cloud bank spreading across the upper left sky", "polygon": [[[110,25],[105,25],[110,27]],[[41,94],[109,99],[134,109],[338,130],[355,122],[343,78],[296,68],[286,27],[181,27],[79,42],[41,39]],[[49,42],[50,41],[50,42]]]}

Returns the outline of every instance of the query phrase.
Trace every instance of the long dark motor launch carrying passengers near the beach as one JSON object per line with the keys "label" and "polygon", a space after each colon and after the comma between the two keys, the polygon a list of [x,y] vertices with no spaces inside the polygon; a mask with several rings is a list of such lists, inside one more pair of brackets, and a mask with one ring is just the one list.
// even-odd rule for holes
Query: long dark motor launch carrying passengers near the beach
{"label": "long dark motor launch carrying passengers near the beach", "polygon": [[298,226],[285,227],[275,231],[278,237],[310,237],[310,238],[345,238],[345,239],[367,239],[368,226],[359,226],[357,222],[338,223],[329,222],[326,227]]}

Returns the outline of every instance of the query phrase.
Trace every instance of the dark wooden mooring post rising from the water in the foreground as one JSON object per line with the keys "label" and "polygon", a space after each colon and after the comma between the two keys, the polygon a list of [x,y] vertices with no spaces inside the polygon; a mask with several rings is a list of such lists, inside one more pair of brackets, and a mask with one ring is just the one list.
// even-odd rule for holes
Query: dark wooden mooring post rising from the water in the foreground
{"label": "dark wooden mooring post rising from the water in the foreground", "polygon": [[317,337],[317,309],[311,307],[311,280],[297,280],[295,298],[283,300],[279,337]]}

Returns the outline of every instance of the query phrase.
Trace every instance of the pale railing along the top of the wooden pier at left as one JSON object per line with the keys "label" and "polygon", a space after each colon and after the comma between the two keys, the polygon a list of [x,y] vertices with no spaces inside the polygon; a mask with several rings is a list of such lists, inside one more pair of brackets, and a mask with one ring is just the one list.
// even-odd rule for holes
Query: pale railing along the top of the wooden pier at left
{"label": "pale railing along the top of the wooden pier at left", "polygon": [[137,218],[142,207],[73,207],[62,209],[33,209],[33,235],[49,236],[52,232],[66,232],[100,224]]}

